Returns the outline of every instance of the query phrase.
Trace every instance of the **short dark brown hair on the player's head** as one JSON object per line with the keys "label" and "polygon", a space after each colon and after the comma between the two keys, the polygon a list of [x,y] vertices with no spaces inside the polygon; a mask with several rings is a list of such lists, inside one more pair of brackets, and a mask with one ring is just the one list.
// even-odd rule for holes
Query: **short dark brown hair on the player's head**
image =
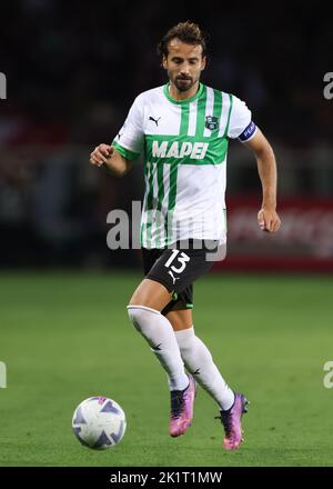
{"label": "short dark brown hair on the player's head", "polygon": [[179,22],[176,26],[169,29],[167,34],[158,43],[158,53],[160,57],[168,57],[169,42],[175,38],[186,44],[201,46],[202,56],[206,56],[206,36],[196,23],[186,20],[186,22]]}

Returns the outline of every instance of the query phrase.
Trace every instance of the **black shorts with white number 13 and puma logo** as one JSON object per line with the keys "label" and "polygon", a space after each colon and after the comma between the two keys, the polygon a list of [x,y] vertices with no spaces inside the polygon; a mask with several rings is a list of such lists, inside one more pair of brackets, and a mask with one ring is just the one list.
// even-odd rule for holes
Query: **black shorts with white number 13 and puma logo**
{"label": "black shorts with white number 13 and puma logo", "polygon": [[213,266],[213,261],[206,260],[206,253],[204,241],[193,239],[169,248],[142,248],[145,278],[162,283],[172,292],[172,300],[162,315],[193,308],[193,282]]}

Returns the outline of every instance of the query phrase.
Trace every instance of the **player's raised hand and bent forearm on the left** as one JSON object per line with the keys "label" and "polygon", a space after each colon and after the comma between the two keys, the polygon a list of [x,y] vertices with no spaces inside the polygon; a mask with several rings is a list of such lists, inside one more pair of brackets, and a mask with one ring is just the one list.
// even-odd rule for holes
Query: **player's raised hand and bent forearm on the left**
{"label": "player's raised hand and bent forearm on the left", "polygon": [[117,177],[123,177],[131,169],[129,160],[123,158],[114,148],[110,144],[99,144],[90,154],[90,163],[97,167],[103,164]]}

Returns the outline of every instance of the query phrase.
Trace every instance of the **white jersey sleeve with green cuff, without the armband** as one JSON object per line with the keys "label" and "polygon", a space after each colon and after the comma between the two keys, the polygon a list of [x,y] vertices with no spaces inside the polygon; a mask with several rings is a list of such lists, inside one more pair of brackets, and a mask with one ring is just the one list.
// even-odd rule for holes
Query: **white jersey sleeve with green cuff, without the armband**
{"label": "white jersey sleeve with green cuff, without the armband", "polygon": [[140,96],[134,100],[128,117],[112,141],[112,146],[127,160],[135,160],[143,152],[143,107]]}

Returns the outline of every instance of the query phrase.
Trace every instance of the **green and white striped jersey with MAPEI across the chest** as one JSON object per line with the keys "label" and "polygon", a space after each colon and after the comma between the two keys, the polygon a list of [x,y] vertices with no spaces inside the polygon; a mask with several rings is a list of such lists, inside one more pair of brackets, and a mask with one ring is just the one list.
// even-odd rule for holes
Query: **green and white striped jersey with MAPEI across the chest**
{"label": "green and white striped jersey with MAPEI across the chest", "polygon": [[202,83],[186,100],[171,98],[169,83],[137,97],[112,146],[129,160],[144,157],[142,247],[225,241],[228,141],[250,122],[244,102]]}

